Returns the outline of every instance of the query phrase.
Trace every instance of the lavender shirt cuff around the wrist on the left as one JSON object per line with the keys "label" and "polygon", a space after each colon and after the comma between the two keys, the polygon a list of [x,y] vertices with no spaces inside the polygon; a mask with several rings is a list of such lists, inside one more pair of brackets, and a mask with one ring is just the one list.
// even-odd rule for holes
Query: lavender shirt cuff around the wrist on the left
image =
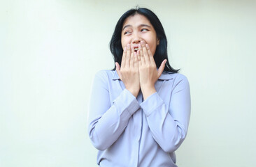
{"label": "lavender shirt cuff around the wrist on the left", "polygon": [[120,111],[128,111],[133,115],[141,106],[138,104],[136,97],[132,95],[129,90],[122,91],[120,96],[114,101],[115,106]]}

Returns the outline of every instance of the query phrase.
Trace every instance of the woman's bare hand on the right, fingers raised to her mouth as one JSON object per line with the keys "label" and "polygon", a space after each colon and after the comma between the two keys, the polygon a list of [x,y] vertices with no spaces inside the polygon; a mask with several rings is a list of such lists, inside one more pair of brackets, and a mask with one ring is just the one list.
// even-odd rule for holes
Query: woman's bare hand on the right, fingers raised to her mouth
{"label": "woman's bare hand on the right, fingers raised to her mouth", "polygon": [[164,71],[166,59],[164,59],[157,70],[150,47],[148,44],[145,44],[144,41],[141,41],[141,44],[138,45],[137,56],[141,92],[144,100],[146,100],[150,95],[156,92],[155,82]]}

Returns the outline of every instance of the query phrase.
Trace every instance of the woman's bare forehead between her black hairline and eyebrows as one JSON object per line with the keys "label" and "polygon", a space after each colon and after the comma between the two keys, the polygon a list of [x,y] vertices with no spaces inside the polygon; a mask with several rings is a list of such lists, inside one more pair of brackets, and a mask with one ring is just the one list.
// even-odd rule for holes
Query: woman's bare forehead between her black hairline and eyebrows
{"label": "woman's bare forehead between her black hairline and eyebrows", "polygon": [[139,26],[141,24],[147,24],[148,26],[152,26],[147,17],[145,17],[144,15],[135,14],[127,17],[122,27],[126,25]]}

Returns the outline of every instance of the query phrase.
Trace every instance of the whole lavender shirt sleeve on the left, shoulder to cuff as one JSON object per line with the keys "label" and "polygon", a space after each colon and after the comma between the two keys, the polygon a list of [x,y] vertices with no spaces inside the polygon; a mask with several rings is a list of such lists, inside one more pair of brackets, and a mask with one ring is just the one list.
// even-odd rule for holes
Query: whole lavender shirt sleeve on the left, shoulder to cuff
{"label": "whole lavender shirt sleeve on the left, shoulder to cuff", "polygon": [[98,72],[90,96],[88,132],[98,150],[110,147],[124,131],[129,118],[140,108],[136,97],[126,89],[111,102],[109,84],[108,74]]}

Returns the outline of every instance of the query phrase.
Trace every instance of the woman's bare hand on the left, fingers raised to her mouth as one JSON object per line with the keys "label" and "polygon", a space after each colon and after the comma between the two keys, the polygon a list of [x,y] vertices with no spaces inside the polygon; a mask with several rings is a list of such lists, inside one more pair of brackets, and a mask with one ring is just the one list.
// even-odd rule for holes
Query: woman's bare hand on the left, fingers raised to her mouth
{"label": "woman's bare hand on the left, fingers raised to her mouth", "polygon": [[125,84],[125,88],[129,90],[132,95],[137,97],[140,90],[138,57],[134,48],[131,47],[130,44],[125,47],[122,54],[121,67],[118,62],[115,62],[115,66],[120,79]]}

